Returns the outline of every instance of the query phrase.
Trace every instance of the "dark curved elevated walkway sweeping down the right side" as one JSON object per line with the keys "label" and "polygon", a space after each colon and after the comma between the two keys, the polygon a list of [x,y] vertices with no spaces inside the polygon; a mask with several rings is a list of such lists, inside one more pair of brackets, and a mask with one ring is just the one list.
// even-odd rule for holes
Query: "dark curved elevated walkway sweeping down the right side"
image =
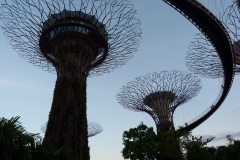
{"label": "dark curved elevated walkway sweeping down the right side", "polygon": [[232,86],[234,78],[234,53],[231,39],[223,24],[197,0],[163,0],[191,23],[193,23],[212,43],[223,66],[223,85],[216,101],[195,119],[180,127],[180,130],[192,130],[208,119],[223,103]]}

